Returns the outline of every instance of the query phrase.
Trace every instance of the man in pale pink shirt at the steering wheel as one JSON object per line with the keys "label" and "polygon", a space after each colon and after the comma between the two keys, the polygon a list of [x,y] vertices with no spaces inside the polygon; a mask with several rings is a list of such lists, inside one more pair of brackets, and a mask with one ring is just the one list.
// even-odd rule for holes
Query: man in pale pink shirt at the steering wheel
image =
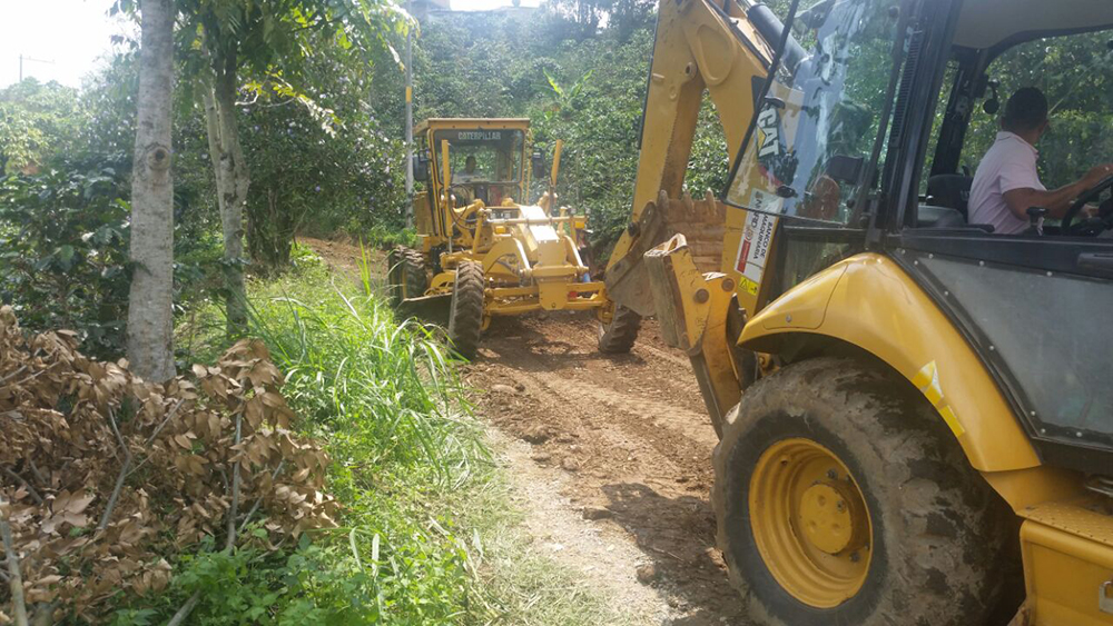
{"label": "man in pale pink shirt at the steering wheel", "polygon": [[1005,103],[1001,132],[982,158],[971,187],[971,223],[993,226],[996,235],[1020,235],[1032,223],[1028,208],[1062,218],[1072,201],[1113,175],[1113,163],[1095,166],[1080,180],[1048,190],[1036,171],[1036,142],[1047,131],[1047,98],[1035,87],[1016,90]]}

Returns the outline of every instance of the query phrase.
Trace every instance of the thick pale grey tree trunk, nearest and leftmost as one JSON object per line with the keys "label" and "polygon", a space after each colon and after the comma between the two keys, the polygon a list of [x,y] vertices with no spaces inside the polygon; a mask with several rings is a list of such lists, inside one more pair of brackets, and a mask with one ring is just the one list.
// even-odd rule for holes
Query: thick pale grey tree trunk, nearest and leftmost
{"label": "thick pale grey tree trunk, nearest and leftmost", "polygon": [[174,369],[174,180],[170,98],[174,89],[174,2],[141,0],[139,100],[131,172],[131,260],[128,358],[147,380]]}

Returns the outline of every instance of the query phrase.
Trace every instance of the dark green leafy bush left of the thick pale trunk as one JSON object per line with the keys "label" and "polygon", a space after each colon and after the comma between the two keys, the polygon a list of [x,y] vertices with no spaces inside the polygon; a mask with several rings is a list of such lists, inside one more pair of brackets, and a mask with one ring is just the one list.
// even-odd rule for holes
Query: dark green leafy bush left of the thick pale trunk
{"label": "dark green leafy bush left of the thick pale trunk", "polygon": [[[128,298],[125,183],[112,169],[0,181],[0,299],[33,330],[77,330],[118,358]],[[46,306],[45,306],[46,305]]]}

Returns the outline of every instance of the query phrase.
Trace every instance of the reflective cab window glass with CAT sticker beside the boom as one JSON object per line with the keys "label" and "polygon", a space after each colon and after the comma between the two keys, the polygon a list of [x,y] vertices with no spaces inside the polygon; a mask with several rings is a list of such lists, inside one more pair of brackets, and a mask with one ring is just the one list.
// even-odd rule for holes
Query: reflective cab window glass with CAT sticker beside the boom
{"label": "reflective cab window glass with CAT sticker beside the boom", "polygon": [[898,0],[827,0],[797,17],[805,47],[761,105],[727,199],[772,215],[845,225],[881,123]]}

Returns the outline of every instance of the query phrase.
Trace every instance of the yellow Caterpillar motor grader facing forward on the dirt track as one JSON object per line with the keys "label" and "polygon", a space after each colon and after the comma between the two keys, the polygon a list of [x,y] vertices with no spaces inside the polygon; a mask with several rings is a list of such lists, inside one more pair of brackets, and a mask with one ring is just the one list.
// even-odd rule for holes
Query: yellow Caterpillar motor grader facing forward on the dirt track
{"label": "yellow Caterpillar motor grader facing forward on the dirt track", "polygon": [[[421,249],[387,256],[387,282],[396,306],[431,311],[449,305],[449,337],[471,358],[492,316],[534,310],[613,310],[580,254],[585,217],[556,206],[560,168],[540,152],[525,167],[528,119],[429,119],[414,131],[414,171],[425,192],[414,198]],[[523,205],[534,178],[549,175],[536,205]]]}

